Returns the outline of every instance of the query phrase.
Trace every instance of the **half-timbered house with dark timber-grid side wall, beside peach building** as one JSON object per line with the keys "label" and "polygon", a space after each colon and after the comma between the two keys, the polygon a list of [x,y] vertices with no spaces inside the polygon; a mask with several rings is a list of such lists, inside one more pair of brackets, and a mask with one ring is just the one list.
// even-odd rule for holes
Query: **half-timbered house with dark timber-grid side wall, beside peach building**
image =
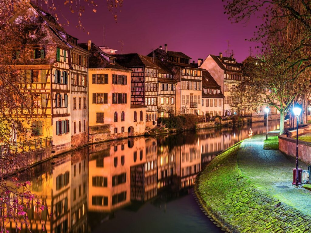
{"label": "half-timbered house with dark timber-grid side wall, beside peach building", "polygon": [[158,67],[151,57],[137,53],[115,54],[117,62],[132,70],[131,104],[144,105],[146,127],[156,125],[158,113]]}

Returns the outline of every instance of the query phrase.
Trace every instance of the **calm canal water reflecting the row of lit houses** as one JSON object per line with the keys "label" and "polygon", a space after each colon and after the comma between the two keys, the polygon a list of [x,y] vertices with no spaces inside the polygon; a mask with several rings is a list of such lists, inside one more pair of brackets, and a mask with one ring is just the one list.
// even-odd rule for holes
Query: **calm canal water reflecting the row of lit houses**
{"label": "calm canal water reflecting the row of lit houses", "polygon": [[[264,122],[93,144],[32,167],[21,180],[48,206],[32,232],[222,232],[193,197],[197,173],[216,154],[266,131]],[[279,128],[269,121],[268,130]],[[215,197],[217,198],[217,197]],[[41,210],[40,210],[41,211]],[[52,212],[52,215],[50,215]],[[9,232],[15,226],[8,225]],[[26,231],[23,231],[26,232]]]}

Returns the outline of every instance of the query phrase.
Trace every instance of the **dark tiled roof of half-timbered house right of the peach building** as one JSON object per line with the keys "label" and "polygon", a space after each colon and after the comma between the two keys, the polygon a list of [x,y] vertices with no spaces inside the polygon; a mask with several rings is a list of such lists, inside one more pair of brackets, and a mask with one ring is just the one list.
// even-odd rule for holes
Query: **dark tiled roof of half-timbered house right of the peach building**
{"label": "dark tiled roof of half-timbered house right of the peach building", "polygon": [[152,57],[140,55],[138,53],[114,54],[117,62],[125,67],[150,67],[160,69],[153,63]]}

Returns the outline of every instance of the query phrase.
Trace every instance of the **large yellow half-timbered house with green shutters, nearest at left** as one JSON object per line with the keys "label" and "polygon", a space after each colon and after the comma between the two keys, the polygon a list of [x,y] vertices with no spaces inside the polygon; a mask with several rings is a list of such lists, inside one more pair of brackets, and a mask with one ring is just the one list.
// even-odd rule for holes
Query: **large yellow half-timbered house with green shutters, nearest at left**
{"label": "large yellow half-timbered house with green shutters, nearest at left", "polygon": [[[83,85],[83,77],[86,79],[88,53],[77,45],[77,38],[67,34],[54,16],[32,3],[26,4],[26,12],[16,10],[10,22],[20,26],[23,29],[21,33],[27,35],[25,44],[16,48],[18,54],[26,53],[25,48],[33,50],[31,63],[20,62],[19,56],[15,60],[16,68],[25,73],[27,87],[36,94],[33,100],[35,118],[27,126],[31,129],[27,139],[51,138],[53,149],[56,153],[61,153],[71,148],[72,135],[75,139],[76,119],[81,121],[81,132],[85,129],[86,137],[73,146],[87,142],[87,106],[83,109],[87,87]],[[74,57],[77,56],[79,59],[81,57],[77,61],[83,64],[76,64]],[[71,85],[71,72],[73,76],[76,74],[81,78],[81,88]],[[83,109],[81,114],[75,114],[73,118],[71,100],[75,96],[71,96],[71,91],[77,99],[81,98]]]}

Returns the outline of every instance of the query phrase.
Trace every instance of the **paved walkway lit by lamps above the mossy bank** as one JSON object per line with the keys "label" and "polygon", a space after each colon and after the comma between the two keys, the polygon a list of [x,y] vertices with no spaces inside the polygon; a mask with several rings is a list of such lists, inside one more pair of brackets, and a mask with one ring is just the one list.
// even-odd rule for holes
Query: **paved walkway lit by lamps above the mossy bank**
{"label": "paved walkway lit by lamps above the mossy bank", "polygon": [[[255,135],[242,142],[237,152],[239,169],[258,189],[311,216],[311,192],[291,184],[295,158],[264,150],[264,139],[266,135]],[[308,165],[299,161],[299,168],[307,170]]]}

